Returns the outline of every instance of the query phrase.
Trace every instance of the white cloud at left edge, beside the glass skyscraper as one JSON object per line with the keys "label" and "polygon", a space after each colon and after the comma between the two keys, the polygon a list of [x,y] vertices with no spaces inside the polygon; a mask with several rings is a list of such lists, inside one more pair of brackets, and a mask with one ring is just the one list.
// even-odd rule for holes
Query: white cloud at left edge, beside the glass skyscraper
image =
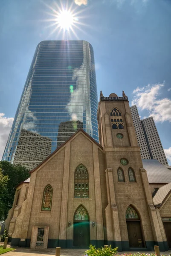
{"label": "white cloud at left edge, beside the glass skyscraper", "polygon": [[6,117],[4,113],[0,113],[0,160],[3,156],[13,120],[13,117]]}

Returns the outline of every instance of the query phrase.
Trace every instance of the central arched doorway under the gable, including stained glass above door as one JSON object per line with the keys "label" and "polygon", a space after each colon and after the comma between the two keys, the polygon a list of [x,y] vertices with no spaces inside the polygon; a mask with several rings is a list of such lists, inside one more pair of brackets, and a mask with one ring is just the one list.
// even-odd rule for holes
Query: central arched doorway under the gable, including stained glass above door
{"label": "central arched doorway under the gable, including stained glass above door", "polygon": [[74,215],[74,246],[89,247],[90,223],[86,209],[81,205]]}

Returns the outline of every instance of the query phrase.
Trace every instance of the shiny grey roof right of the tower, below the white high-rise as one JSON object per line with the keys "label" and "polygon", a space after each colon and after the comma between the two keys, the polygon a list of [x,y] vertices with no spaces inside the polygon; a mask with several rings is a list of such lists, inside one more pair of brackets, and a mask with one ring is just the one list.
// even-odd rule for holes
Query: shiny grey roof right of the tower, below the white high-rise
{"label": "shiny grey roof right of the tower, below the white high-rise", "polygon": [[149,183],[169,183],[171,182],[171,170],[165,167],[158,160],[143,159],[142,164],[147,171]]}

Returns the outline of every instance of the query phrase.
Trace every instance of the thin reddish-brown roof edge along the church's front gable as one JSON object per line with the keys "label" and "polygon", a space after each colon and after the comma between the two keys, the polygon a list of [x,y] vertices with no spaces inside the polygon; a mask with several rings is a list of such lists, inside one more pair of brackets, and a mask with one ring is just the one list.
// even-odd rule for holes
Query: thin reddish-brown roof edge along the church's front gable
{"label": "thin reddish-brown roof edge along the church's front gable", "polygon": [[50,154],[48,157],[46,157],[45,160],[43,160],[43,162],[41,162],[38,166],[36,166],[35,169],[30,171],[30,173],[35,172],[35,170],[37,170],[43,163],[45,163],[50,157],[52,157],[53,154],[55,154],[60,148],[62,148],[65,144],[67,144],[67,142],[69,140],[71,140],[80,131],[82,133],[84,133],[90,140],[92,140],[94,143],[96,143],[96,145],[98,145],[99,148],[103,149],[103,147],[98,142],[96,142],[96,140],[94,140],[89,134],[87,134],[87,132],[85,132],[82,128],[80,128],[80,129],[78,129],[78,131],[76,131],[74,134],[72,134],[72,136],[68,140],[66,140],[63,144],[61,144],[58,148],[56,148],[55,151],[52,152],[52,154]]}

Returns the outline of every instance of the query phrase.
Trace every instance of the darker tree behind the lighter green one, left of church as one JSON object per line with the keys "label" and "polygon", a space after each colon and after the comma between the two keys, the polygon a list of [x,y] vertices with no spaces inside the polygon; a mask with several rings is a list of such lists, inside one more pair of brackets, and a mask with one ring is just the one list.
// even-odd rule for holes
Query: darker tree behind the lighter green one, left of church
{"label": "darker tree behind the lighter green one, left of church", "polygon": [[0,169],[3,177],[8,177],[6,183],[6,196],[3,197],[3,200],[0,198],[0,204],[3,204],[4,215],[1,218],[6,219],[9,209],[12,208],[14,201],[15,189],[16,186],[21,182],[30,177],[29,170],[25,166],[21,165],[12,165],[10,162],[1,161]]}

